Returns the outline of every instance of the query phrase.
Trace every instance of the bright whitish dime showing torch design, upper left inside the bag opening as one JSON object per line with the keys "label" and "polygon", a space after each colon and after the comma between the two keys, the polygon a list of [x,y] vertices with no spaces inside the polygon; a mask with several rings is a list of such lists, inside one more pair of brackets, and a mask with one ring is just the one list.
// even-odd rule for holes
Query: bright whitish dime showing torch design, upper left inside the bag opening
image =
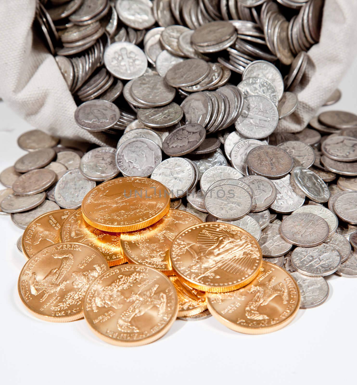
{"label": "bright whitish dime showing torch design, upper left inside the bag opening", "polygon": [[104,52],[107,70],[119,79],[131,80],[143,75],[147,69],[147,58],[135,44],[115,42]]}

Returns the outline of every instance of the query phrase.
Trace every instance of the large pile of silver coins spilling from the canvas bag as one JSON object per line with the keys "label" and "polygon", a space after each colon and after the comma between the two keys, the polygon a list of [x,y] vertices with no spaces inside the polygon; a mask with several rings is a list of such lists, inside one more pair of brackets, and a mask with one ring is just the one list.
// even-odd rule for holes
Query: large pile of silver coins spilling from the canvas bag
{"label": "large pile of silver coins spilling from the canvas bag", "polygon": [[171,208],[251,233],[297,280],[302,308],[327,299],[325,276],[357,278],[357,116],[330,110],[297,134],[275,131],[297,108],[322,0],[42,3],[37,24],[78,126],[118,144],[83,153],[24,133],[28,153],[0,175],[2,214],[24,229],[79,208],[102,181],[151,177]]}

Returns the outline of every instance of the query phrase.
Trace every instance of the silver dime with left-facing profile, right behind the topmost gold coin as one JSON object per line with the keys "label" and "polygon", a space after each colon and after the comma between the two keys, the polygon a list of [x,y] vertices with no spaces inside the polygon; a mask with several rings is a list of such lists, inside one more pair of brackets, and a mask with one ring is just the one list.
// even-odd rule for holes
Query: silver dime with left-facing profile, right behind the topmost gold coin
{"label": "silver dime with left-facing profile, right behind the topmost gold coin", "polygon": [[118,147],[115,161],[124,176],[148,177],[161,162],[160,147],[146,138],[133,138]]}

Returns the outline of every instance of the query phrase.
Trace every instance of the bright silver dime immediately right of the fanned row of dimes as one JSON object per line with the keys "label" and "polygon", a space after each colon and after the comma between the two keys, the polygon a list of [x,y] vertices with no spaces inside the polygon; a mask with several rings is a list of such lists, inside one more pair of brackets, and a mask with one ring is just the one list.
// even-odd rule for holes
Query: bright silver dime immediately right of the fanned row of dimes
{"label": "bright silver dime immediately right of the fanned row of dimes", "polygon": [[278,121],[278,110],[273,102],[264,96],[251,95],[244,98],[242,114],[234,125],[245,137],[262,139],[275,130]]}

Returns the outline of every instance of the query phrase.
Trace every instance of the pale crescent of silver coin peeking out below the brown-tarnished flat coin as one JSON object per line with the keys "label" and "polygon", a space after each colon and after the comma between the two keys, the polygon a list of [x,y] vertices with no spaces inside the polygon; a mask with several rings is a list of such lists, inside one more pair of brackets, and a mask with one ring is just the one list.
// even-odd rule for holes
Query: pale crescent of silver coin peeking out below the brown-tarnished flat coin
{"label": "pale crescent of silver coin peeking out below the brown-tarnished flat coin", "polygon": [[240,179],[248,184],[253,191],[251,211],[263,211],[270,207],[277,197],[274,183],[264,176],[249,175]]}

